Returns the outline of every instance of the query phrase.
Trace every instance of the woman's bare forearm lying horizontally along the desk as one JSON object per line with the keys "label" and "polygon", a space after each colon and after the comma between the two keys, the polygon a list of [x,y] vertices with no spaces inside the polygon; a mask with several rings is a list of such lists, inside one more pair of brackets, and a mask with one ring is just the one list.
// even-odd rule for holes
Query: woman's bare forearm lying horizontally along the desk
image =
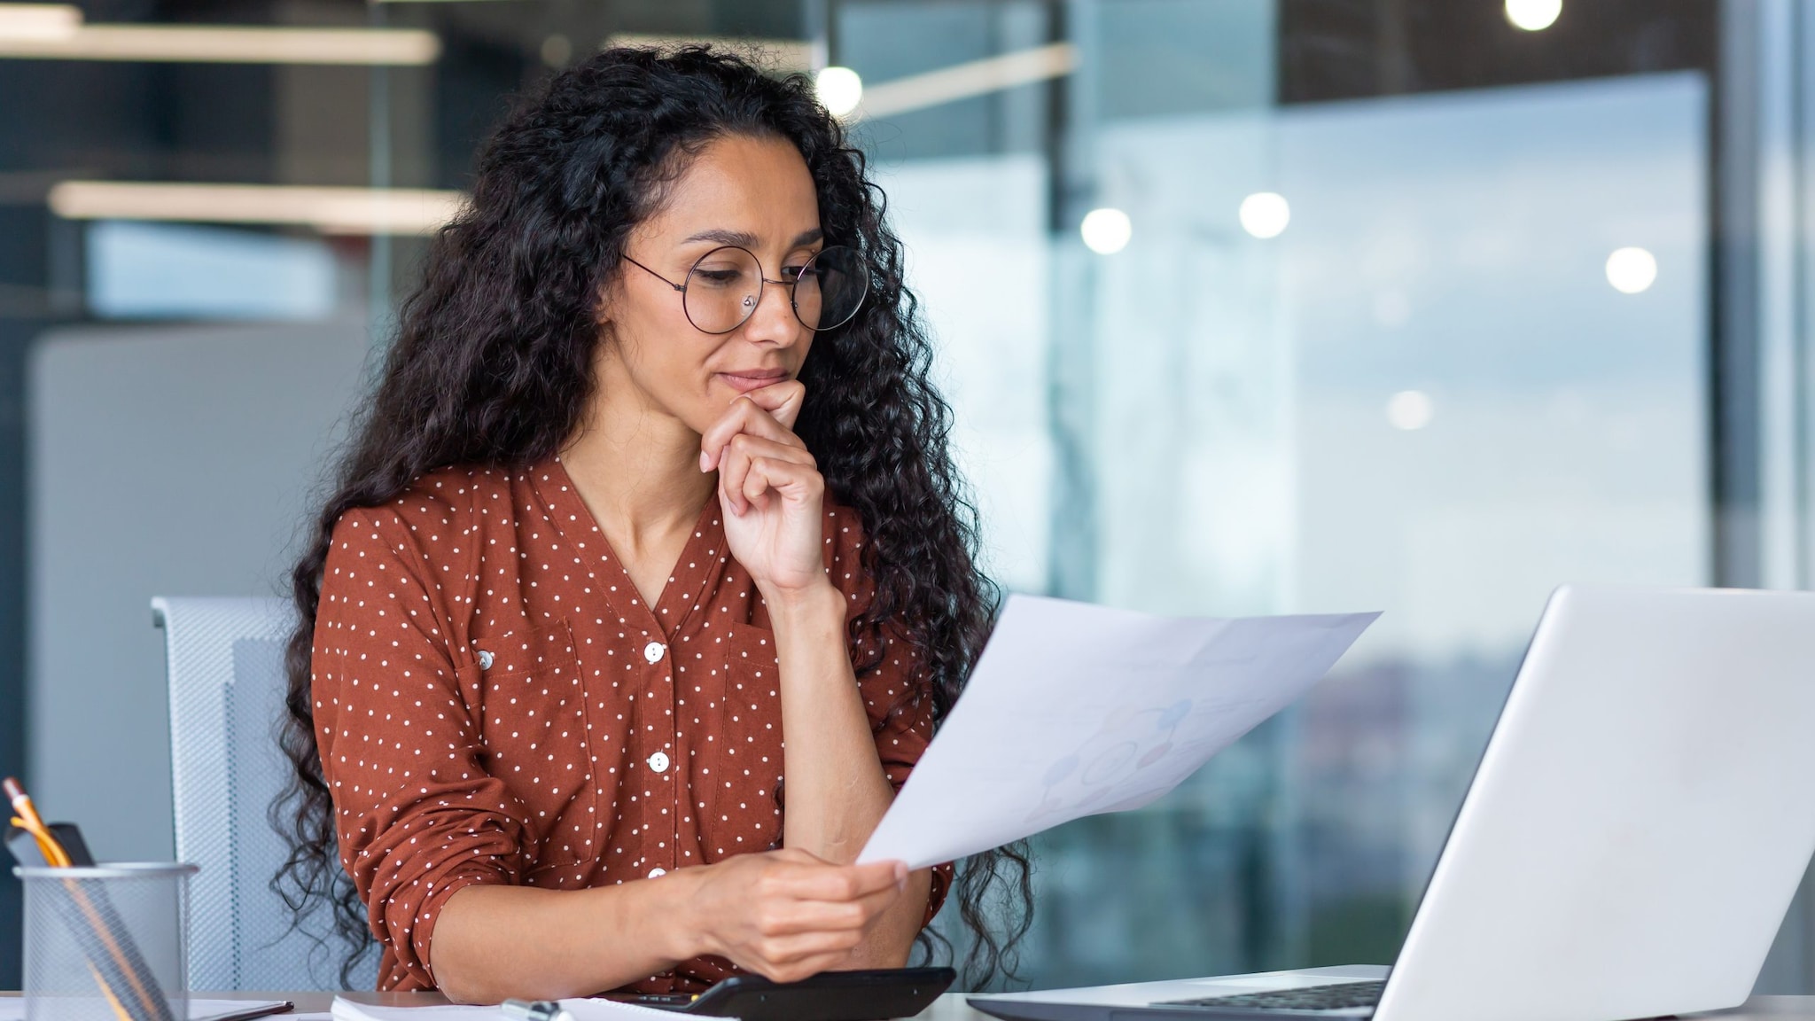
{"label": "woman's bare forearm lying horizontally along the desk", "polygon": [[682,912],[690,883],[682,870],[590,890],[466,887],[441,907],[430,970],[456,1003],[617,988],[697,952]]}

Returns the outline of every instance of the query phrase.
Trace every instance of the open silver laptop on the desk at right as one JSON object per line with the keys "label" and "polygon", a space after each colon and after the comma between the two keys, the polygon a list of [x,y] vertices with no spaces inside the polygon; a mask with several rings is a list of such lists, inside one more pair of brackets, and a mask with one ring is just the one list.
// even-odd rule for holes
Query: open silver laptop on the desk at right
{"label": "open silver laptop on the desk at right", "polygon": [[1559,589],[1399,959],[976,996],[1033,1021],[1737,1006],[1815,852],[1815,594]]}

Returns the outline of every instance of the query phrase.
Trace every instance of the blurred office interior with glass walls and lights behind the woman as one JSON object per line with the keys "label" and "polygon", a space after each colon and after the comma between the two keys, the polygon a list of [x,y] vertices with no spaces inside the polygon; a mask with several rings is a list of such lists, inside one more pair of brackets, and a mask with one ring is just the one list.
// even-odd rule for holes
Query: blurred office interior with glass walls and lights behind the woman
{"label": "blurred office interior with glass walls and lights behind the woman", "polygon": [[151,596],[281,590],[486,127],[652,36],[849,107],[1004,587],[1387,610],[1036,841],[1035,985],[1390,961],[1554,585],[1810,583],[1797,0],[0,4],[0,770],[103,857],[171,854]]}

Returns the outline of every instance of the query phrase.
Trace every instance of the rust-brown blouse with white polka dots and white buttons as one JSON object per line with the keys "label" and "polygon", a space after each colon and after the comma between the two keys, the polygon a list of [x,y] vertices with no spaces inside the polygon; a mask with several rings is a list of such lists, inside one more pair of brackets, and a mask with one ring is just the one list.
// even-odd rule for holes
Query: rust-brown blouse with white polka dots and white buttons
{"label": "rust-brown blouse with white polka dots and white buttons", "polygon": [[[824,534],[855,616],[869,592],[857,514],[828,503]],[[900,788],[933,709],[909,643],[884,641],[858,687]],[[559,460],[423,476],[334,527],[312,670],[379,988],[434,988],[436,916],[470,883],[572,890],[780,847],[775,641],[717,500],[652,607]],[[927,919],[947,885],[942,868]],[[699,957],[630,988],[699,992],[731,974]]]}

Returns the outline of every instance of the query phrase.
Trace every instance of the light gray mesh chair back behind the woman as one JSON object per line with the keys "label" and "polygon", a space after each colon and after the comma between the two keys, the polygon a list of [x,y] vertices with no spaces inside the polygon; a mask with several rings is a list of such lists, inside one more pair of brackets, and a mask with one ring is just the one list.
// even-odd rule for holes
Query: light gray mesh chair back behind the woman
{"label": "light gray mesh chair back behind the woman", "polygon": [[[171,672],[176,859],[201,867],[189,885],[189,988],[341,988],[347,947],[329,914],[292,928],[270,888],[289,854],[269,810],[290,778],[276,734],[296,610],[227,598],[160,598],[151,609]],[[374,954],[354,988],[376,976]]]}

